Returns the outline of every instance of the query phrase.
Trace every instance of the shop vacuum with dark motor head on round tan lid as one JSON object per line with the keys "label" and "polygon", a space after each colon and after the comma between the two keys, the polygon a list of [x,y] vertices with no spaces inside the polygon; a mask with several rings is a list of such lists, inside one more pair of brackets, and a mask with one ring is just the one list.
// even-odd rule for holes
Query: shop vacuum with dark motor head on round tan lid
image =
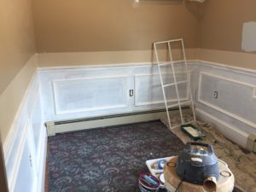
{"label": "shop vacuum with dark motor head on round tan lid", "polygon": [[231,192],[235,183],[228,165],[206,143],[187,143],[166,163],[164,176],[169,192]]}

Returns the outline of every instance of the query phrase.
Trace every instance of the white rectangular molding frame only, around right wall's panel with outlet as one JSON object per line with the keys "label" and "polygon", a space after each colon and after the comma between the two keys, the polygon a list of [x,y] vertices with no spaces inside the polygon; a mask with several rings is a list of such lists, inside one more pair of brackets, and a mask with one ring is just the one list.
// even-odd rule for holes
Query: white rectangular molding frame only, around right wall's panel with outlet
{"label": "white rectangular molding frame only, around right wall's panel with outlet", "polygon": [[208,76],[208,77],[212,77],[212,78],[216,78],[216,79],[222,79],[224,81],[231,82],[231,83],[234,83],[234,84],[240,84],[242,86],[247,86],[248,88],[252,89],[252,98],[253,99],[256,99],[256,85],[247,84],[246,82],[237,81],[235,79],[227,79],[227,78],[224,78],[224,77],[220,77],[218,75],[213,75],[211,73],[201,72],[200,77],[199,77],[199,87],[198,87],[198,97],[197,97],[197,101],[200,102],[201,104],[207,106],[208,108],[213,108],[213,109],[217,110],[220,113],[224,113],[225,115],[228,115],[230,118],[239,120],[239,121],[241,121],[242,123],[244,123],[246,125],[249,125],[249,126],[252,126],[253,128],[256,128],[256,124],[253,123],[252,121],[250,121],[248,119],[245,119],[245,118],[237,115],[236,113],[232,113],[232,112],[230,112],[230,111],[228,111],[224,108],[220,108],[220,107],[218,107],[218,106],[216,106],[212,103],[204,101],[201,98],[201,95],[202,95],[202,92],[201,92],[202,76]]}

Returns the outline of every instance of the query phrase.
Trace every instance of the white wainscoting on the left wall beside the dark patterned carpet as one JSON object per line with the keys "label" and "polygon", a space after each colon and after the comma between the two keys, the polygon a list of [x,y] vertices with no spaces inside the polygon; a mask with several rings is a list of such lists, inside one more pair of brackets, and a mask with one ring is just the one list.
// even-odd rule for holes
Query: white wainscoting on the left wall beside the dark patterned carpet
{"label": "white wainscoting on the left wall beside the dark patterned carpet", "polygon": [[46,128],[35,73],[3,145],[10,192],[43,192]]}

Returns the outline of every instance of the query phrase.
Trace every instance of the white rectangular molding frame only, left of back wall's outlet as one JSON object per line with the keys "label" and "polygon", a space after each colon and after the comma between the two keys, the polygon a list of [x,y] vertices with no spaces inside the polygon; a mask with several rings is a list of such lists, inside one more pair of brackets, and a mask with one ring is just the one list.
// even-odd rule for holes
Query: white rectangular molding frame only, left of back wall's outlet
{"label": "white rectangular molding frame only, left of back wall's outlet", "polygon": [[[80,80],[94,80],[94,79],[121,79],[123,81],[123,93],[124,93],[124,104],[120,105],[110,105],[106,107],[99,107],[99,108],[79,108],[75,110],[61,110],[58,103],[58,90],[57,90],[57,83],[59,82],[70,82],[70,81],[80,81]],[[54,93],[54,104],[55,104],[55,114],[65,114],[65,113],[79,113],[79,112],[88,112],[88,111],[96,111],[96,110],[105,110],[105,109],[112,109],[112,108],[125,108],[127,107],[127,79],[128,76],[109,76],[109,77],[94,77],[94,78],[76,78],[76,79],[55,79],[52,81],[53,85],[53,93]]]}

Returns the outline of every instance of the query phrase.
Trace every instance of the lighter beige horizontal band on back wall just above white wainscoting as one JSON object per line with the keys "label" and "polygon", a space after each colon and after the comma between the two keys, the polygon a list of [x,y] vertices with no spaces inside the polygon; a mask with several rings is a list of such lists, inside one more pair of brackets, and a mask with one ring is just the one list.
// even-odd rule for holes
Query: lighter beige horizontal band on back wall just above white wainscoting
{"label": "lighter beige horizontal band on back wall just above white wainscoting", "polygon": [[[172,49],[175,60],[180,60],[181,50]],[[166,50],[160,51],[165,55]],[[197,59],[197,49],[186,49],[189,60]],[[82,65],[105,64],[137,64],[155,61],[152,50],[125,50],[125,51],[96,51],[96,52],[66,52],[66,53],[40,53],[38,54],[39,67],[65,67]]]}

